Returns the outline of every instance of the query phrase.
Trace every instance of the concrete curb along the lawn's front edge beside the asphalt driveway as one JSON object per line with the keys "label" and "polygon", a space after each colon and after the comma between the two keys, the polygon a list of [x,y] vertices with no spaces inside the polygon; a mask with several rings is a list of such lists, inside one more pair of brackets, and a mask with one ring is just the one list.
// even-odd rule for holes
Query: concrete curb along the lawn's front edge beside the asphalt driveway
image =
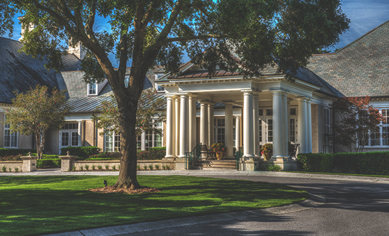
{"label": "concrete curb along the lawn's front edge beside the asphalt driveway", "polygon": [[124,226],[110,226],[105,228],[94,228],[90,230],[79,230],[68,233],[58,233],[46,236],[111,236],[124,235],[129,233],[140,233],[151,230],[162,230],[165,228],[174,228],[180,226],[192,226],[196,224],[212,223],[217,221],[228,221],[237,218],[260,217],[268,214],[288,214],[316,208],[326,203],[322,196],[313,195],[306,201],[283,205],[275,208],[247,210],[244,212],[230,212],[222,214],[209,214],[201,217],[185,217],[180,219],[166,219],[162,221],[144,222],[138,224],[129,224]]}

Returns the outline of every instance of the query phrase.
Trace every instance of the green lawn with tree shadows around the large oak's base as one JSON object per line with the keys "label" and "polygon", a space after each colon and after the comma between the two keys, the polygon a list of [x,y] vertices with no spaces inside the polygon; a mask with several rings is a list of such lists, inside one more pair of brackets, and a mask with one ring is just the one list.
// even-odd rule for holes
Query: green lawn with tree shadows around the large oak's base
{"label": "green lawn with tree shadows around the large oak's base", "polygon": [[138,176],[158,193],[103,194],[117,176],[1,176],[0,235],[42,235],[234,212],[303,201],[285,185],[191,176]]}

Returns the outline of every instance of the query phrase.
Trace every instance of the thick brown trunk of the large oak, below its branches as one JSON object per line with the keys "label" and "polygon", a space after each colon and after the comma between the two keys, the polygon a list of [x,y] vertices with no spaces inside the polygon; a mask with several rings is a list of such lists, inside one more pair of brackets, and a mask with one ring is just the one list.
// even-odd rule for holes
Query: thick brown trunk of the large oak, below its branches
{"label": "thick brown trunk of the large oak, below its branches", "polygon": [[[134,104],[135,106],[132,106]],[[120,169],[119,178],[113,187],[138,189],[136,160],[136,110],[137,102],[117,102],[120,124]]]}

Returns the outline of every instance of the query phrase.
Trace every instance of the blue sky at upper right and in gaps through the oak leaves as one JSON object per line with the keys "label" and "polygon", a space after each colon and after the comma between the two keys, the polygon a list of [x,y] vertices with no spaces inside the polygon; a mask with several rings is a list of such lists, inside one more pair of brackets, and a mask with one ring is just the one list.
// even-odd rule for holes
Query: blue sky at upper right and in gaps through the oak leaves
{"label": "blue sky at upper right and in gaps through the oak leaves", "polygon": [[[345,47],[358,37],[361,37],[376,26],[389,20],[389,0],[343,0],[342,10],[351,19],[350,28],[349,31],[340,35],[340,42],[334,47],[331,47],[329,49],[330,51]],[[104,24],[106,24],[106,19],[104,18],[99,18],[95,22],[95,26],[98,27],[99,31],[110,31]],[[8,37],[8,35],[3,35],[3,37]],[[20,25],[16,19],[15,31],[12,38],[18,40],[19,37]],[[117,66],[114,57],[110,56],[110,58],[113,61],[113,65]],[[187,62],[188,60],[188,57],[183,58],[183,62]]]}

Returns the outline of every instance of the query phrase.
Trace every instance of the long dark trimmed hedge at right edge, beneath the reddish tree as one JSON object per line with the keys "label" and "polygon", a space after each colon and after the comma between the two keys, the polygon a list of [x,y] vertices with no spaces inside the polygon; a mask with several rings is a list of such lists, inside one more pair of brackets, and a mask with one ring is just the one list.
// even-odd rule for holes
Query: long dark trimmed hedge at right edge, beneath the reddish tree
{"label": "long dark trimmed hedge at right edge, beneath the reddish tree", "polygon": [[367,153],[299,153],[300,171],[389,175],[389,151]]}

